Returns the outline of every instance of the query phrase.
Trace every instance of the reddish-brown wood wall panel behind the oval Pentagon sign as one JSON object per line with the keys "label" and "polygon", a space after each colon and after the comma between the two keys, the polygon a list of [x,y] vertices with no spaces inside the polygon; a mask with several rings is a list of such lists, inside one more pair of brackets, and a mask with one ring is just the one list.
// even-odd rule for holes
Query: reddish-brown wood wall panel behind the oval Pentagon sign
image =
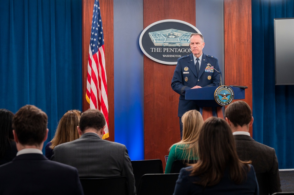
{"label": "reddish-brown wood wall panel behind the oval Pentagon sign", "polygon": [[[143,0],[144,23],[177,19],[195,25],[195,0]],[[145,159],[161,159],[181,140],[178,118],[179,94],[171,89],[176,65],[163,65],[144,56],[144,146]]]}

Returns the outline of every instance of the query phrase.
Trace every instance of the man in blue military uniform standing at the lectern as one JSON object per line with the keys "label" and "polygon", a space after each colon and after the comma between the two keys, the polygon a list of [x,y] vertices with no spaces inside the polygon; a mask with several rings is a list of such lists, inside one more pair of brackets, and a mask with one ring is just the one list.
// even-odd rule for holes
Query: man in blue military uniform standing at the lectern
{"label": "man in blue military uniform standing at the lectern", "polygon": [[172,89],[180,94],[178,116],[180,117],[181,138],[183,128],[181,118],[183,114],[188,110],[199,110],[196,101],[185,100],[185,90],[219,86],[220,84],[220,75],[213,69],[215,68],[221,73],[218,59],[210,55],[205,55],[202,52],[204,45],[204,39],[201,34],[191,34],[190,48],[192,53],[178,59],[171,81]]}

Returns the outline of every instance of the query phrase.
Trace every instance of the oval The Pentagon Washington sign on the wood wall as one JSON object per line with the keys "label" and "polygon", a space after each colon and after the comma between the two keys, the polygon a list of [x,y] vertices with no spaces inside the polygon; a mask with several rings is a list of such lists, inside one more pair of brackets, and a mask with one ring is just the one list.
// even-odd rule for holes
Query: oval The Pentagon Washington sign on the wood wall
{"label": "oval The Pentagon Washington sign on the wood wall", "polygon": [[192,33],[200,31],[190,23],[181,20],[161,20],[150,24],[142,31],[139,45],[142,52],[151,60],[176,65],[178,58],[191,54],[189,43]]}

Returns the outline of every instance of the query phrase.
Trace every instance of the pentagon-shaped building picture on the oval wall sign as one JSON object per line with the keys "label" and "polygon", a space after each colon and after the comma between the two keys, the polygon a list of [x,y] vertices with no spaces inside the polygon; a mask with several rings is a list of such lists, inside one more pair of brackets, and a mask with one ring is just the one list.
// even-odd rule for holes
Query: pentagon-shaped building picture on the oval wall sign
{"label": "pentagon-shaped building picture on the oval wall sign", "polygon": [[148,33],[155,46],[189,46],[191,32],[176,29],[159,30]]}

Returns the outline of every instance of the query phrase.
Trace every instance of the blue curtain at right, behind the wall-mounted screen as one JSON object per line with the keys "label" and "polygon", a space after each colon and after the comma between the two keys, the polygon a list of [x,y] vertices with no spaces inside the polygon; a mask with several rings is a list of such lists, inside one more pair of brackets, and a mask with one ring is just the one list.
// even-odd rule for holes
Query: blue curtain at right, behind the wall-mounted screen
{"label": "blue curtain at right, behind the wall-mounted screen", "polygon": [[275,86],[274,18],[293,17],[293,0],[252,0],[253,138],[275,148],[280,169],[294,168],[294,86]]}

